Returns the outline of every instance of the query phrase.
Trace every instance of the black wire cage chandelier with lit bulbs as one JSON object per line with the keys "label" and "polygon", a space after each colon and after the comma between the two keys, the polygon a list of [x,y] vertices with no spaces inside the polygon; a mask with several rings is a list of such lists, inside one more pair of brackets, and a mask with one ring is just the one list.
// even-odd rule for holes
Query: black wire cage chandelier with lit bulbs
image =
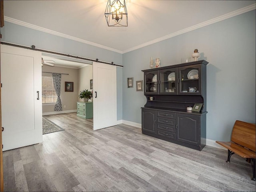
{"label": "black wire cage chandelier with lit bulbs", "polygon": [[108,26],[127,27],[128,14],[125,0],[108,0],[105,10]]}

